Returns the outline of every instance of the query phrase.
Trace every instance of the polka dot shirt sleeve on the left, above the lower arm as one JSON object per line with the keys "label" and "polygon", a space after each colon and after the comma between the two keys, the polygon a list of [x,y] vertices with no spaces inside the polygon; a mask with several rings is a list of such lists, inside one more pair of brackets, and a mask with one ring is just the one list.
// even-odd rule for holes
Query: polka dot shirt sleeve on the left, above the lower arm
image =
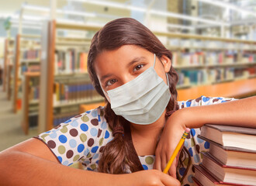
{"label": "polka dot shirt sleeve on the left, above the lower arm", "polygon": [[42,140],[61,164],[69,166],[81,159],[86,162],[98,158],[102,141],[111,136],[102,109],[96,108],[35,138]]}

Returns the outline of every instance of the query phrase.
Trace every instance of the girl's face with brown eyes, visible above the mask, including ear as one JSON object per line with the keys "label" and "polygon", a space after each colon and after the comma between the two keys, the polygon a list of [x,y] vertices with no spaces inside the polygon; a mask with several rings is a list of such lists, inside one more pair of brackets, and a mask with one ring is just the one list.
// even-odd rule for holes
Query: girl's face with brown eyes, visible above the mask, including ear
{"label": "girl's face with brown eyes, visible above the mask, including ear", "polygon": [[[104,91],[117,88],[133,80],[154,65],[154,53],[135,45],[124,45],[117,50],[105,50],[95,59],[95,71]],[[171,68],[171,60],[156,57],[154,70],[167,84],[165,73]],[[106,96],[108,98],[108,96]]]}

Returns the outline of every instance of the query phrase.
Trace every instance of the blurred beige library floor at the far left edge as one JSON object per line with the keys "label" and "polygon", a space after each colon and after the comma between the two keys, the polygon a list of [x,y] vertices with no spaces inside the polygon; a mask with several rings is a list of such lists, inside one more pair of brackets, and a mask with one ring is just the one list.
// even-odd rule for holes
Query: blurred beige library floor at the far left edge
{"label": "blurred beige library floor at the far left edge", "polygon": [[12,102],[0,86],[0,151],[37,135],[36,129],[29,130],[27,136],[23,133],[21,118],[21,112],[12,112]]}

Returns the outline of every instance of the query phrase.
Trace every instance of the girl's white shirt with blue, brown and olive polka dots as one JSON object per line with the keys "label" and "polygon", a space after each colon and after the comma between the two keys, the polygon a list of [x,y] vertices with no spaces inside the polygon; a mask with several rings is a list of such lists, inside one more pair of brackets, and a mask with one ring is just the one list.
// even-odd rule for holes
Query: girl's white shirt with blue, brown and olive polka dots
{"label": "girl's white shirt with blue, brown and olive polka dots", "polygon": [[[178,102],[179,108],[212,105],[221,102],[233,101],[234,98],[200,98]],[[181,153],[182,164],[178,166],[178,176],[182,177],[189,164],[189,156],[192,164],[199,164],[202,161],[201,153],[209,150],[209,143],[198,138],[200,129],[191,129],[184,146],[188,153]],[[80,161],[83,168],[88,171],[98,171],[99,158],[102,147],[112,140],[112,130],[103,116],[102,107],[74,116],[59,126],[36,136],[42,140],[57,157],[61,164],[70,166]],[[154,155],[139,157],[144,170],[153,169]],[[193,184],[192,165],[185,175],[182,185]]]}

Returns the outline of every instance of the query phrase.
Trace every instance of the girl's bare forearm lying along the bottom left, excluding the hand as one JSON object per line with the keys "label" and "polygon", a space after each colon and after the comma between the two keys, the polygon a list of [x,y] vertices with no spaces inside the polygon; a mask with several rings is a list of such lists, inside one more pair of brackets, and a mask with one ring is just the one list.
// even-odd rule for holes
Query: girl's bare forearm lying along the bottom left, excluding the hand
{"label": "girl's bare forearm lying along the bottom left, excluding the hand", "polygon": [[0,153],[3,185],[118,185],[119,177],[67,167],[29,153]]}

